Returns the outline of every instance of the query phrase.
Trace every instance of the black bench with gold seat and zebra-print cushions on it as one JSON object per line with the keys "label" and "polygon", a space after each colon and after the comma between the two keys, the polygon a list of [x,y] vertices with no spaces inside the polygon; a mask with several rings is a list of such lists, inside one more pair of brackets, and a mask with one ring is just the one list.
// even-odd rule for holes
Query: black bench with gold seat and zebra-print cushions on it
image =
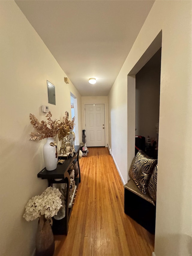
{"label": "black bench with gold seat and zebra-print cushions on it", "polygon": [[155,233],[157,160],[139,150],[124,186],[124,211],[150,233]]}

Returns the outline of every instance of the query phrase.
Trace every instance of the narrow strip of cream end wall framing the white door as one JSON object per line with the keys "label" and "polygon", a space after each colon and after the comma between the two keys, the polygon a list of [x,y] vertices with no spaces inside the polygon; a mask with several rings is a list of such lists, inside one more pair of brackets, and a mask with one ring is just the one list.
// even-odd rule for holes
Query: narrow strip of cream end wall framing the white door
{"label": "narrow strip of cream end wall framing the white door", "polygon": [[[82,120],[83,123],[83,129],[85,129],[85,104],[104,104],[105,106],[105,146],[107,146],[108,143],[108,97],[107,96],[82,96]],[[86,134],[86,131],[85,131]],[[82,131],[81,131],[82,136]],[[80,140],[82,142],[82,138]]]}

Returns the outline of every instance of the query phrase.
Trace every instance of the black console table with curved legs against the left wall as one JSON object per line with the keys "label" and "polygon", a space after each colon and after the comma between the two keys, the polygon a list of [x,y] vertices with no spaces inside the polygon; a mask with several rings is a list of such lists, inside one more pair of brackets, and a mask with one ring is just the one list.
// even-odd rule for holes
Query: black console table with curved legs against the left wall
{"label": "black console table with curved legs against the left wall", "polygon": [[[53,220],[52,230],[53,230],[53,234],[55,235],[67,235],[68,233],[68,223],[69,223],[71,211],[73,208],[73,203],[71,208],[69,208],[69,187],[70,187],[69,176],[71,172],[71,170],[69,170],[69,167],[71,166],[72,163],[73,164],[77,163],[78,172],[79,172],[79,177],[75,177],[75,185],[77,186],[76,187],[76,191],[77,191],[79,182],[81,182],[81,173],[80,173],[80,167],[79,167],[79,150],[80,150],[80,146],[75,146],[75,153],[73,157],[62,158],[62,159],[65,159],[64,163],[58,164],[55,170],[47,171],[46,168],[44,168],[37,175],[38,178],[47,179],[49,186],[54,183],[67,183],[67,195],[65,199],[65,217],[60,220],[55,220],[54,218],[52,218]],[[61,179],[61,180],[55,181],[55,179]]]}

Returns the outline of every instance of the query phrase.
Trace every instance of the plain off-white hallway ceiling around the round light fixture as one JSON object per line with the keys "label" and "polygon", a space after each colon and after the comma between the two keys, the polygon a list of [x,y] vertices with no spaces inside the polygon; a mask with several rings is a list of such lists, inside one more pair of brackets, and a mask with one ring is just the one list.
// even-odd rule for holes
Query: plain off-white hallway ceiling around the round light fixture
{"label": "plain off-white hallway ceiling around the round light fixture", "polygon": [[107,96],[155,1],[15,2],[79,93]]}

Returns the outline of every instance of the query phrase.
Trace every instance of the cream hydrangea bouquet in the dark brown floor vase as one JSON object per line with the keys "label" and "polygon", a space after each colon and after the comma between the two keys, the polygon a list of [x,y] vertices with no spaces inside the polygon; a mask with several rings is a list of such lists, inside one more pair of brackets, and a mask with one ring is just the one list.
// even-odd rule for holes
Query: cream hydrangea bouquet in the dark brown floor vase
{"label": "cream hydrangea bouquet in the dark brown floor vase", "polygon": [[55,242],[51,229],[52,217],[61,208],[61,192],[58,188],[48,187],[39,196],[32,197],[25,206],[23,218],[26,221],[39,218],[36,236],[36,256],[52,256]]}

